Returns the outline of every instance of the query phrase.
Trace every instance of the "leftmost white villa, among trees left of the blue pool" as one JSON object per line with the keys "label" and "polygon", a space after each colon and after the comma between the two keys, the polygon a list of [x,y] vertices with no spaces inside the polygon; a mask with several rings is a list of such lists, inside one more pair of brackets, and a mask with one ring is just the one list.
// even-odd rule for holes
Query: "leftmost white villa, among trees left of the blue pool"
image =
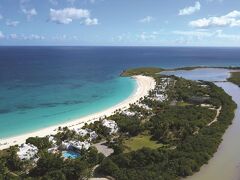
{"label": "leftmost white villa, among trees left of the blue pool", "polygon": [[31,160],[38,153],[38,148],[32,144],[22,144],[17,152],[21,160]]}

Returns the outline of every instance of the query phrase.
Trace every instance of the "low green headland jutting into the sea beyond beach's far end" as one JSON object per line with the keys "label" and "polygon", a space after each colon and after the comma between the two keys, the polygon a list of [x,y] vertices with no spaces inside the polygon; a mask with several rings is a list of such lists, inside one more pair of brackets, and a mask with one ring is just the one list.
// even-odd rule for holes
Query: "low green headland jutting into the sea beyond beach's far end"
{"label": "low green headland jutting into the sea beyond beach's far end", "polygon": [[122,72],[121,76],[135,76],[135,75],[146,75],[152,76],[156,73],[163,71],[162,68],[155,68],[155,67],[142,67],[142,68],[135,68],[135,69],[128,69]]}

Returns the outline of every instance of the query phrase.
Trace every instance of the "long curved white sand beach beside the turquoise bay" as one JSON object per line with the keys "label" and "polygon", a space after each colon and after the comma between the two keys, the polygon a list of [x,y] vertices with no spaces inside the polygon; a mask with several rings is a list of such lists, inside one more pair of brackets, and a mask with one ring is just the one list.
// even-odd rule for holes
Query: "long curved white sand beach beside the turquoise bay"
{"label": "long curved white sand beach beside the turquoise bay", "polygon": [[26,133],[26,134],[15,136],[15,137],[0,139],[0,149],[6,149],[13,145],[20,145],[22,143],[25,143],[25,140],[29,137],[36,137],[36,136],[44,137],[47,135],[55,134],[55,133],[57,133],[56,129],[59,126],[61,126],[61,127],[67,126],[70,129],[74,128],[74,127],[82,127],[85,123],[91,123],[91,122],[99,120],[99,118],[101,118],[101,117],[110,116],[118,109],[128,108],[129,104],[135,103],[141,97],[148,95],[148,92],[150,90],[154,89],[154,87],[156,85],[155,80],[151,77],[139,75],[139,76],[134,76],[133,78],[137,82],[136,90],[133,92],[133,94],[129,98],[125,99],[124,101],[117,104],[116,106],[113,106],[109,109],[106,109],[106,110],[98,112],[98,113],[91,114],[89,116],[85,116],[85,117],[81,117],[79,119],[74,119],[72,121],[68,121],[67,123],[64,123],[64,124],[58,124],[55,126],[51,126],[51,127],[45,128],[45,129],[41,129],[41,130],[38,130],[35,132]]}

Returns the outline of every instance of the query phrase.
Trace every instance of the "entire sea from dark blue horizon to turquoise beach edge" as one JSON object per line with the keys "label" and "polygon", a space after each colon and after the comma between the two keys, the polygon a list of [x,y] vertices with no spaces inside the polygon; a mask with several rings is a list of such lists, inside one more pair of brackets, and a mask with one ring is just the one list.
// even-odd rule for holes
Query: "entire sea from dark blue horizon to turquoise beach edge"
{"label": "entire sea from dark blue horizon to turquoise beach edge", "polygon": [[134,91],[122,70],[240,66],[240,48],[0,47],[0,138],[109,108]]}

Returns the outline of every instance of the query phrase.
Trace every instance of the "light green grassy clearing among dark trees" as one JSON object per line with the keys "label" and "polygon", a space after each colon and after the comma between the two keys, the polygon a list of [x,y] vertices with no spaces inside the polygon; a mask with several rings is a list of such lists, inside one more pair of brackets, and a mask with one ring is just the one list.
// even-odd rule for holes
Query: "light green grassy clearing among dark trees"
{"label": "light green grassy clearing among dark trees", "polygon": [[148,147],[151,149],[157,149],[163,146],[163,144],[157,141],[152,141],[149,135],[138,135],[124,141],[124,146],[126,147],[125,153],[136,151],[142,149],[143,147]]}

